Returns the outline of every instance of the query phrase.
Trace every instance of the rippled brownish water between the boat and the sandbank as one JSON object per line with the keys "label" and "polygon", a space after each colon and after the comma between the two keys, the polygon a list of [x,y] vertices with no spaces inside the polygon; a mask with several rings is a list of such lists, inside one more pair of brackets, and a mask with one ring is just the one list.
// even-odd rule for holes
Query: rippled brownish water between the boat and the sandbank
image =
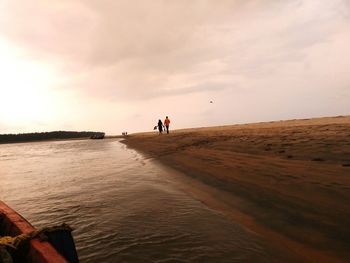
{"label": "rippled brownish water between the boat and the sandbank", "polygon": [[118,140],[0,145],[0,199],[75,230],[81,262],[274,262],[261,240]]}

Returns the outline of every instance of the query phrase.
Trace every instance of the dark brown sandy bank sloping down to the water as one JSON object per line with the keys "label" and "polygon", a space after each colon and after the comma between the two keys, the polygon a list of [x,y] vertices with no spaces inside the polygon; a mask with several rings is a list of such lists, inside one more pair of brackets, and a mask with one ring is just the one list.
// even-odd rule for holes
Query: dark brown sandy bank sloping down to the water
{"label": "dark brown sandy bank sloping down to the water", "polygon": [[350,116],[139,133],[185,191],[301,262],[350,258]]}

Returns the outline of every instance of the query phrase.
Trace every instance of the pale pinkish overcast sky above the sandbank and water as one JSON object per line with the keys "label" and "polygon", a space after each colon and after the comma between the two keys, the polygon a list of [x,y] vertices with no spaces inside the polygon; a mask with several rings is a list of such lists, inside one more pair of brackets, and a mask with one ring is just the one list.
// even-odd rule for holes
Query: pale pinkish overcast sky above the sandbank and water
{"label": "pale pinkish overcast sky above the sandbank and water", "polygon": [[0,92],[0,133],[349,115],[350,1],[0,0]]}

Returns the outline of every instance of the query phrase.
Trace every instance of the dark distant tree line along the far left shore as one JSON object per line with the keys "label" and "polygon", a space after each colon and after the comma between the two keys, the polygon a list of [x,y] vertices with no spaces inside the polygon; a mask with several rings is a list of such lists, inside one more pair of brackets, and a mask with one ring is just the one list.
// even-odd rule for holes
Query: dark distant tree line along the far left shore
{"label": "dark distant tree line along the far left shore", "polygon": [[0,143],[9,142],[29,142],[46,141],[55,139],[74,139],[74,138],[95,138],[104,137],[104,132],[75,132],[75,131],[53,131],[53,132],[35,132],[19,134],[0,134]]}

